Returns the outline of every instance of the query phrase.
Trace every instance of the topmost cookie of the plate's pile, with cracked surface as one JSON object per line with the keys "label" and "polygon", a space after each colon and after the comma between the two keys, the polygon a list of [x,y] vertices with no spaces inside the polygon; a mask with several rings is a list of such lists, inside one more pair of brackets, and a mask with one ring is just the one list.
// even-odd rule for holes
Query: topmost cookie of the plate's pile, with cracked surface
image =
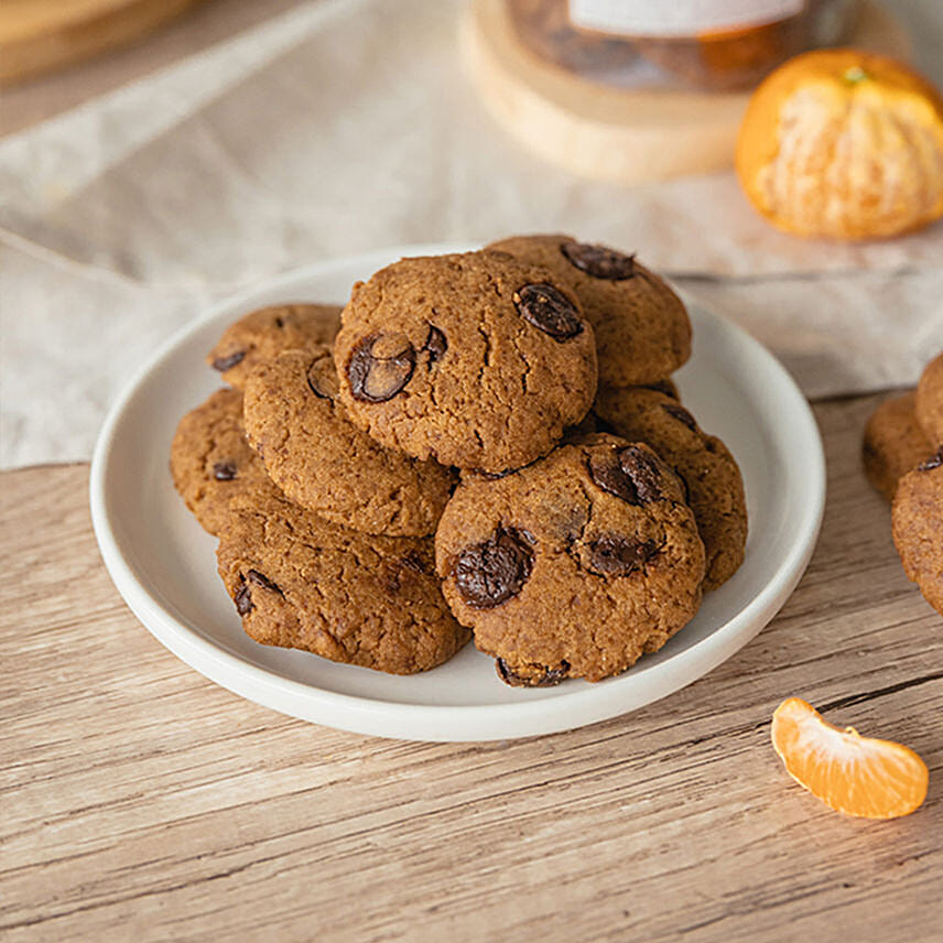
{"label": "topmost cookie of the plate's pile, with cracked surface", "polygon": [[596,390],[573,292],[488,252],[403,259],[356,284],[335,362],[342,402],[378,442],[494,473],[546,454]]}

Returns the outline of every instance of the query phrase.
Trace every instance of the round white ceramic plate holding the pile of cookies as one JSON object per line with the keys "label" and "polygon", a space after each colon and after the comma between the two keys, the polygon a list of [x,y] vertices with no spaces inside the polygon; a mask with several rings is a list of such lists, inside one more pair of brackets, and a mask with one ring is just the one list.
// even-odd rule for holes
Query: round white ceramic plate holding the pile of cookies
{"label": "round white ceramic plate holding the pile of cookies", "polygon": [[91,466],[91,517],[111,578],[134,615],[174,654],[259,704],[332,727],[422,740],[491,740],[592,724],[664,697],[706,674],[776,615],[805,568],[822,519],[822,443],[803,395],[779,362],[722,317],[692,306],[694,355],[676,375],[703,426],[740,464],[750,536],[737,574],[657,654],[597,684],[520,690],[468,644],[410,678],[335,664],[246,636],[216,575],[215,540],[185,509],[167,470],[180,418],[217,386],[203,362],[223,328],[252,307],[345,301],[350,284],[424,246],[313,265],[219,305],[173,337],[111,410]]}

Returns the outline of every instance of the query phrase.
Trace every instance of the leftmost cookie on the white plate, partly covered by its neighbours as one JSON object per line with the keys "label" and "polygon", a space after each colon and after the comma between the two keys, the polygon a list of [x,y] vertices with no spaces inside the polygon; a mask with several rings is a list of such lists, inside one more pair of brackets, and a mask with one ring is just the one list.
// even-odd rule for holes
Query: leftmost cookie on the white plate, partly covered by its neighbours
{"label": "leftmost cookie on the white plate, partly covered by its neighbours", "polygon": [[265,468],[242,429],[242,393],[217,390],[180,422],[171,445],[171,475],[204,530],[218,535],[229,500],[247,489],[271,489]]}

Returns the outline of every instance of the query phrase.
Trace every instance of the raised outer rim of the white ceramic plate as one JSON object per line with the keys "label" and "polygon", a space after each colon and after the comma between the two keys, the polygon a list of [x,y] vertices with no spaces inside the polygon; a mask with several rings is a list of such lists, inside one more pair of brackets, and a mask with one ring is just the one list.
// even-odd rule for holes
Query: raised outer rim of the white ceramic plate
{"label": "raised outer rim of the white ceramic plate", "polygon": [[[812,460],[805,469],[812,500],[803,507],[803,519],[798,523],[796,538],[789,552],[779,561],[768,583],[735,616],[709,636],[652,666],[651,670],[660,670],[660,674],[669,675],[662,682],[661,693],[655,696],[641,693],[640,696],[632,697],[631,692],[621,689],[610,689],[607,696],[607,689],[595,684],[553,698],[503,704],[433,706],[328,691],[272,673],[238,653],[220,648],[169,613],[161,600],[142,585],[111,527],[106,483],[108,459],[121,419],[151,373],[191,335],[236,306],[254,304],[254,299],[262,293],[277,293],[282,290],[288,292],[300,281],[316,279],[342,267],[357,270],[362,268],[366,273],[377,268],[378,263],[386,264],[390,259],[400,256],[466,251],[468,248],[467,245],[420,243],[378,249],[299,267],[246,288],[217,301],[203,315],[175,330],[133,372],[109,408],[95,445],[88,486],[93,528],[106,570],[119,594],[144,628],[169,651],[214,683],[280,713],[369,736],[440,743],[485,743],[541,736],[627,714],[687,686],[751,641],[792,595],[815,550],[825,507],[825,456],[817,423],[795,380],[771,351],[734,322],[697,302],[691,302],[687,297],[685,301],[691,306],[723,322],[725,329],[739,335],[740,342],[751,348],[751,356],[763,361],[763,371],[776,375],[780,386],[789,390],[794,405],[800,407],[796,422],[804,426],[800,433],[807,441],[806,444],[812,446],[812,455],[809,456]],[[751,630],[745,631],[745,626],[751,622]],[[706,659],[703,651],[705,647],[712,650]],[[638,673],[635,675],[636,679],[639,676]],[[595,705],[595,709],[587,711],[588,705]],[[584,713],[579,719],[572,723],[561,723],[559,719],[559,715],[581,709]],[[313,716],[314,714],[317,716]],[[476,720],[487,724],[499,717],[510,718],[507,726],[513,728],[513,733],[481,733],[474,729],[477,726]]]}

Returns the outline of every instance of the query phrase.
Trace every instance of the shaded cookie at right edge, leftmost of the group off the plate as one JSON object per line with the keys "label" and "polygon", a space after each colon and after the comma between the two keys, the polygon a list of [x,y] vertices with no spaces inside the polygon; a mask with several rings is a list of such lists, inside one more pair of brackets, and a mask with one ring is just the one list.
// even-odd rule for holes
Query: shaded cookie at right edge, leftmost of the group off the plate
{"label": "shaded cookie at right edge, leftmost of the group off the plate", "polygon": [[911,390],[885,400],[865,425],[865,475],[888,501],[893,500],[897,483],[933,452],[917,422],[915,399]]}

